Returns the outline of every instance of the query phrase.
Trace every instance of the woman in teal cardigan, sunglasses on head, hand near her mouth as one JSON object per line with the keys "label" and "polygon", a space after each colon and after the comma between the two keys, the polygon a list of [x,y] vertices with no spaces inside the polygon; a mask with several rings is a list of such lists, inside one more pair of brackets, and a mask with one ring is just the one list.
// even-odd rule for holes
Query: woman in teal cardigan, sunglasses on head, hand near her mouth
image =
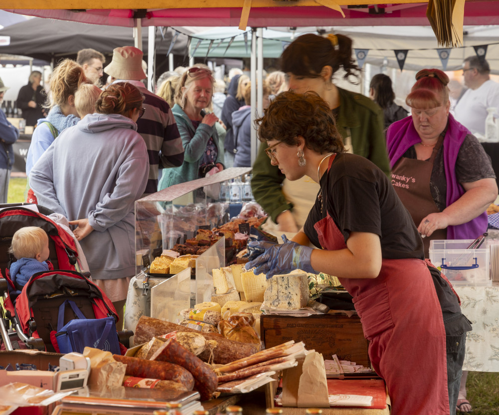
{"label": "woman in teal cardigan, sunglasses on head, hand near her mouth", "polygon": [[215,79],[209,69],[193,66],[184,72],[175,91],[172,108],[184,145],[184,163],[163,171],[158,190],[204,177],[214,167],[224,169],[215,123],[218,117],[206,113],[213,97]]}

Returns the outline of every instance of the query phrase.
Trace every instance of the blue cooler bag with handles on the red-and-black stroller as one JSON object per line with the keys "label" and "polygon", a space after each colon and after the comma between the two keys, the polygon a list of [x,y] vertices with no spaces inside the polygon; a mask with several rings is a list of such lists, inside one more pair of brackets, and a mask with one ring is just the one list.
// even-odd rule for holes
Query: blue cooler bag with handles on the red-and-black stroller
{"label": "blue cooler bag with handles on the red-and-black stroller", "polygon": [[[64,309],[69,304],[77,319],[64,324]],[[57,333],[55,334],[60,353],[83,353],[85,346],[121,354],[114,317],[85,318],[74,301],[65,300],[59,306]]]}

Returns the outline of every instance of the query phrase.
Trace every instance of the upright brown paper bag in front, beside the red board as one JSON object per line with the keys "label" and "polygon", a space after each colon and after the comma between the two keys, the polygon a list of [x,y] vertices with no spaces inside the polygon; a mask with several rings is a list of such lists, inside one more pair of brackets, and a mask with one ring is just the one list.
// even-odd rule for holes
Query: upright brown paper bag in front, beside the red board
{"label": "upright brown paper bag in front, beside the red board", "polygon": [[309,353],[305,357],[298,386],[297,407],[329,408],[326,369],[320,353]]}

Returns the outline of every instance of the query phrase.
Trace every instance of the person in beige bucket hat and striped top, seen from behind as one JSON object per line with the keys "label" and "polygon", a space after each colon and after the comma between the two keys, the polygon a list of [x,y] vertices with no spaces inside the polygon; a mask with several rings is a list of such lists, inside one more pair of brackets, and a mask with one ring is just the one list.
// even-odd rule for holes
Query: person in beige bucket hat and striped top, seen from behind
{"label": "person in beige bucket hat and striped top, seen from behind", "polygon": [[137,133],[146,142],[149,153],[149,179],[144,194],[158,190],[160,168],[178,167],[184,162],[184,146],[177,123],[168,103],[148,91],[142,79],[146,78],[142,67],[143,53],[133,46],[117,47],[113,59],[104,68],[111,77],[111,84],[130,82],[144,95],[144,112],[137,120]]}

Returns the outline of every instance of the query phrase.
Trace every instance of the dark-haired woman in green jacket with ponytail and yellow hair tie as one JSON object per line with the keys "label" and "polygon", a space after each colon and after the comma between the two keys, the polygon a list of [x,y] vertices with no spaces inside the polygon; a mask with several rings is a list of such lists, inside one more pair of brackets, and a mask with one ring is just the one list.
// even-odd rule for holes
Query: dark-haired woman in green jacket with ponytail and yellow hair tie
{"label": "dark-haired woman in green jacket with ponytail and yellow hair tie", "polygon": [[[368,158],[388,175],[383,113],[369,98],[333,83],[332,77],[340,68],[346,80],[360,71],[352,58],[352,40],[344,35],[304,34],[281,55],[281,70],[288,76],[289,89],[319,94],[329,105],[347,151]],[[283,231],[291,236],[303,225],[318,187],[307,177],[294,183],[286,180],[268,162],[265,147],[260,145],[251,179],[255,200],[271,218],[262,228],[276,236]]]}

